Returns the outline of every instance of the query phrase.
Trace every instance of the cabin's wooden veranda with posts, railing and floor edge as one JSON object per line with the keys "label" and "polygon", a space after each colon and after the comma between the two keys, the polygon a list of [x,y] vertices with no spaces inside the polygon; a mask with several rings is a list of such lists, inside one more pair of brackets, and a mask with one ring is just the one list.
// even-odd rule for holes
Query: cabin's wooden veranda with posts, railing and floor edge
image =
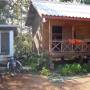
{"label": "cabin's wooden veranda with posts, railing and floor edge", "polygon": [[[87,56],[90,54],[90,37],[87,38],[88,33],[89,33],[89,32],[87,32],[87,30],[84,30],[84,32],[86,33],[85,34],[86,36],[83,36],[86,38],[82,38],[82,37],[78,38],[78,32],[76,30],[76,27],[71,24],[72,28],[71,28],[71,37],[70,38],[66,38],[66,39],[65,38],[62,38],[62,39],[55,38],[55,39],[53,39],[53,34],[52,34],[53,24],[50,20],[48,23],[49,23],[48,28],[49,28],[49,53],[50,53],[50,55],[55,56],[55,57],[65,56],[66,58],[68,58],[68,57],[73,57],[73,56],[77,57],[79,55],[84,57],[84,56]],[[57,25],[58,24],[56,23],[56,26]],[[89,28],[88,28],[88,30],[89,30]],[[63,32],[63,30],[62,30],[62,32]],[[80,33],[82,33],[82,31]],[[58,33],[58,34],[54,34],[54,35],[59,36],[60,34]]]}

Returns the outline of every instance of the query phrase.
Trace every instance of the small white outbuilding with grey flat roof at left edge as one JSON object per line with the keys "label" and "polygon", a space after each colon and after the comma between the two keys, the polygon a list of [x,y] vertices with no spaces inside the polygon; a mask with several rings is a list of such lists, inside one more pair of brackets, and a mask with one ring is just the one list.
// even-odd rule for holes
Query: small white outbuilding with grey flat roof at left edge
{"label": "small white outbuilding with grey flat roof at left edge", "polygon": [[0,62],[6,62],[8,57],[14,55],[14,33],[17,27],[13,25],[0,25]]}

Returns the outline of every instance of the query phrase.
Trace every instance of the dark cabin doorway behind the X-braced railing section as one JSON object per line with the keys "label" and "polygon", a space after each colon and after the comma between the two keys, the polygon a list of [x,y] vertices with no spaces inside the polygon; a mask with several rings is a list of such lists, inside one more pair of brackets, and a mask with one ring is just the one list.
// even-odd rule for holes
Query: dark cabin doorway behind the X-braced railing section
{"label": "dark cabin doorway behind the X-braced railing section", "polygon": [[61,51],[62,27],[52,26],[52,51]]}

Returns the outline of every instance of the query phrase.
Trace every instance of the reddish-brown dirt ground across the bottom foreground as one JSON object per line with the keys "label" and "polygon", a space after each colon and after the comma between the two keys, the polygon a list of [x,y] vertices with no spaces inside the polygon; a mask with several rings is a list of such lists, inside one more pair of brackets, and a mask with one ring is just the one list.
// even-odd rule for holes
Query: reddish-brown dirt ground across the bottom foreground
{"label": "reddish-brown dirt ground across the bottom foreground", "polygon": [[32,74],[4,77],[0,82],[0,90],[90,90],[90,76],[55,85],[46,77]]}

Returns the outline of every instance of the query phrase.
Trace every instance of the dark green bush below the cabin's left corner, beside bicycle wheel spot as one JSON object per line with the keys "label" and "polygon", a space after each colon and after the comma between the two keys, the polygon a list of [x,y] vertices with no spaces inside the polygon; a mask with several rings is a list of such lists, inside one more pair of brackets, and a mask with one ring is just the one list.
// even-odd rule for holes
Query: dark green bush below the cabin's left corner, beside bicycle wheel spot
{"label": "dark green bush below the cabin's left corner, beside bicycle wheel spot", "polygon": [[32,54],[28,59],[23,60],[23,66],[29,66],[33,71],[40,71],[43,67],[50,68],[52,61],[46,54]]}

